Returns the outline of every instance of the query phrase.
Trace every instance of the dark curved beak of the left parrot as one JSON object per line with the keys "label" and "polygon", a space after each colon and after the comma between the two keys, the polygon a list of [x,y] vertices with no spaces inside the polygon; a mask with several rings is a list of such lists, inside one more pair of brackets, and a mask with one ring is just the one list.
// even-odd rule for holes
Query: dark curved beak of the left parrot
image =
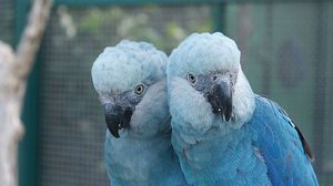
{"label": "dark curved beak of the left parrot", "polygon": [[113,103],[104,104],[105,122],[110,133],[115,137],[119,136],[119,130],[130,126],[131,117],[133,114],[132,107],[123,107],[114,105]]}

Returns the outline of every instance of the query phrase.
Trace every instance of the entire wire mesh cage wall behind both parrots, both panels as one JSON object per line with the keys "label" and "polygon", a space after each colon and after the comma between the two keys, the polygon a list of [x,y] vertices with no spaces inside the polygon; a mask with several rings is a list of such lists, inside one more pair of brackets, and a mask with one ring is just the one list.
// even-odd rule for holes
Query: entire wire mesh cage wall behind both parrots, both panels
{"label": "entire wire mesh cage wall behind both parrots, both panels", "polygon": [[[18,29],[16,2],[0,0],[0,40],[11,44]],[[320,184],[333,183],[333,2],[226,1],[220,7],[224,18],[216,18],[216,4],[205,1],[127,7],[61,2],[52,9],[33,72],[38,185],[109,183],[107,126],[90,75],[103,48],[129,39],[170,54],[190,33],[212,32],[215,20],[238,43],[254,92],[276,101],[301,127],[314,152]]]}

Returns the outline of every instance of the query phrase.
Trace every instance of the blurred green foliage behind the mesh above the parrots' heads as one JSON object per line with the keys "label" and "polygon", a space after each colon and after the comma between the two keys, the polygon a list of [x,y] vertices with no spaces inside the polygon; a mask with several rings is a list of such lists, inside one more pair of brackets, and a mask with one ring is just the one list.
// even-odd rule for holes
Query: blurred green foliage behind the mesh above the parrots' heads
{"label": "blurred green foliage behind the mesh above the parrots' heads", "polygon": [[[171,52],[190,33],[212,30],[211,8],[208,6],[199,8],[200,16],[198,7],[184,9],[185,19],[183,20],[172,14],[174,12],[168,12],[168,9],[159,6],[90,8],[80,13],[77,13],[75,9],[65,7],[58,9],[60,9],[58,11],[60,20],[74,20],[71,21],[72,25],[64,25],[64,29],[74,27],[78,34],[85,34],[104,45],[112,45],[122,39],[129,39],[151,42],[157,48]],[[110,35],[108,40],[105,35]]]}

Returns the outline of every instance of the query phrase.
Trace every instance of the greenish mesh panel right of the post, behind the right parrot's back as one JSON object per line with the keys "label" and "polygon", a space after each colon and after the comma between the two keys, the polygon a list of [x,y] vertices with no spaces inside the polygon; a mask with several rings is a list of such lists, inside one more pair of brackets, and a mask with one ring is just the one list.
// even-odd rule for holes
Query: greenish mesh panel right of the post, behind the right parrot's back
{"label": "greenish mesh panel right of the post, behind the right parrot's back", "polygon": [[254,91],[275,100],[302,128],[322,185],[333,174],[332,8],[332,2],[230,4],[225,27]]}

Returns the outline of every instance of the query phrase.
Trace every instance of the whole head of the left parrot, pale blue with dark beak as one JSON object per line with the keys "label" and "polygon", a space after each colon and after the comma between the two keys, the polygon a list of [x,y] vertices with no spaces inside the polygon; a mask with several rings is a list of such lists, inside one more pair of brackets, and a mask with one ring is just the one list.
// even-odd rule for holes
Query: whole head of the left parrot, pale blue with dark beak
{"label": "whole head of the left parrot, pale blue with dark beak", "polygon": [[114,137],[147,137],[168,128],[167,55],[145,42],[105,48],[91,69]]}

